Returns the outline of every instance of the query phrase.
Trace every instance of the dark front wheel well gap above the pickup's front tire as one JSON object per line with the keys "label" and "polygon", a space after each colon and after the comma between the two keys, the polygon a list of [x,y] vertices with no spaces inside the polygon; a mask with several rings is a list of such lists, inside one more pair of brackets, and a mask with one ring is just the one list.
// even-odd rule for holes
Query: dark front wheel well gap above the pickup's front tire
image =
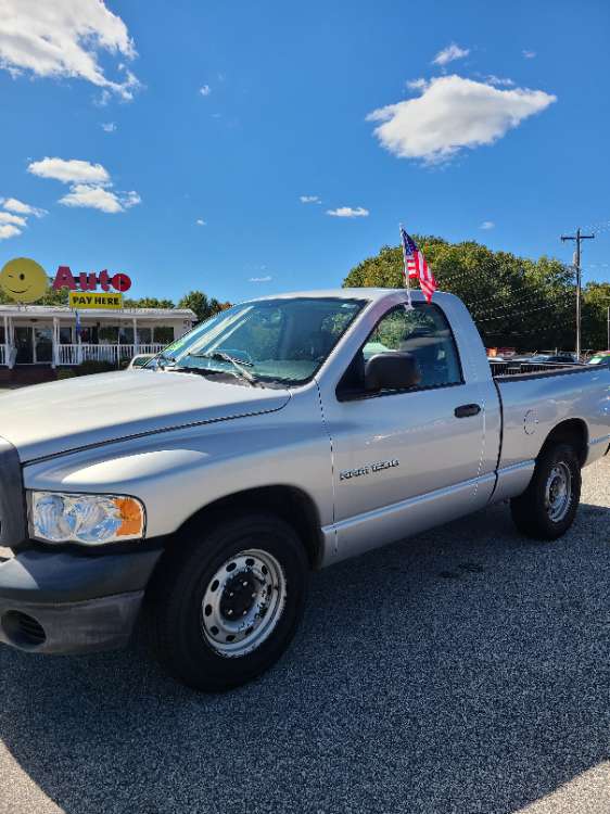
{"label": "dark front wheel well gap above the pickup's front tire", "polygon": [[312,568],[317,568],[321,559],[322,536],[318,510],[312,498],[295,486],[272,485],[236,492],[214,500],[190,517],[178,530],[178,534],[189,525],[218,522],[238,512],[268,511],[280,517],[298,534],[307,552]]}

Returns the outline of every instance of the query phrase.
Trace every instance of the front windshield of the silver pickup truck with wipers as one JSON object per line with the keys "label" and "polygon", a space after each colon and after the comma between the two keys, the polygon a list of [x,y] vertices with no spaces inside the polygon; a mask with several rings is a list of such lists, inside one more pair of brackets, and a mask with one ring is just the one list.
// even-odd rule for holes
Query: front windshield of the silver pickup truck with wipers
{"label": "front windshield of the silver pickup truck with wipers", "polygon": [[153,366],[301,384],[310,379],[365,305],[294,297],[234,305],[168,345]]}

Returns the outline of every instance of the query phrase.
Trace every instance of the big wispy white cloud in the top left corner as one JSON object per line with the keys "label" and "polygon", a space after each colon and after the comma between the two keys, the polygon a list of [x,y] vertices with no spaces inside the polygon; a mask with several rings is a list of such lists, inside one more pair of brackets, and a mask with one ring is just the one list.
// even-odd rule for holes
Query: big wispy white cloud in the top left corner
{"label": "big wispy white cloud in the top left corner", "polygon": [[100,52],[137,56],[127,26],[103,0],[0,0],[0,67],[13,77],[77,77],[131,99],[138,79],[120,63],[123,76],[109,79]]}

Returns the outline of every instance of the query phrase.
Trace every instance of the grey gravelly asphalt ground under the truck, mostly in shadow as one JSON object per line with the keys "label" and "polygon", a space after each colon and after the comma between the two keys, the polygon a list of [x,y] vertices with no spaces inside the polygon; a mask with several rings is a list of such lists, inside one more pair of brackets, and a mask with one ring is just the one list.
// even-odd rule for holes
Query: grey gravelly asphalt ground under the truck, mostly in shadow
{"label": "grey gravelly asphalt ground under the truck, mostly in shadow", "polygon": [[0,647],[0,812],[610,811],[610,460],[557,544],[506,507],[315,575],[257,683],[200,696],[142,646]]}

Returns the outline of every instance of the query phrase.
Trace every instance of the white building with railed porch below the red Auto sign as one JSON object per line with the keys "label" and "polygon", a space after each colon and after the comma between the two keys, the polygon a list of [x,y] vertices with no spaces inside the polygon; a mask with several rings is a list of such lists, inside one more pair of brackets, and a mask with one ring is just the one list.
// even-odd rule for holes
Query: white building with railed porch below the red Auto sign
{"label": "white building with railed porch below the red Auto sign", "polygon": [[87,308],[0,305],[0,367],[116,364],[158,353],[196,321],[190,308]]}

